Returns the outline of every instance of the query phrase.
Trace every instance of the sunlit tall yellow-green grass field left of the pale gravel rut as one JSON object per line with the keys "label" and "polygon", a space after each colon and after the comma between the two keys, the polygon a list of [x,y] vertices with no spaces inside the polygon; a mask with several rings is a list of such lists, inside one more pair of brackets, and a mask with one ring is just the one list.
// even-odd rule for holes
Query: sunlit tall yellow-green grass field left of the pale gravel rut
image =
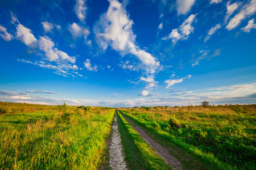
{"label": "sunlit tall yellow-green grass field left of the pale gravel rut", "polygon": [[0,102],[0,169],[98,169],[114,109]]}

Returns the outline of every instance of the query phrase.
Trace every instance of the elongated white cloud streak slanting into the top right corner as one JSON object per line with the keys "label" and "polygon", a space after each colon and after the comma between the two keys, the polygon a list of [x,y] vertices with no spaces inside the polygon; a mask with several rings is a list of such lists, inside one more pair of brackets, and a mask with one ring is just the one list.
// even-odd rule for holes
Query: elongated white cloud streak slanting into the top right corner
{"label": "elongated white cloud streak slanting into the top right corner", "polygon": [[226,29],[230,31],[236,28],[242,22],[242,20],[255,14],[255,12],[256,12],[256,0],[251,0],[250,3],[247,3],[242,7],[240,12],[238,12],[238,14],[234,16],[234,18],[230,19],[228,25],[226,25]]}

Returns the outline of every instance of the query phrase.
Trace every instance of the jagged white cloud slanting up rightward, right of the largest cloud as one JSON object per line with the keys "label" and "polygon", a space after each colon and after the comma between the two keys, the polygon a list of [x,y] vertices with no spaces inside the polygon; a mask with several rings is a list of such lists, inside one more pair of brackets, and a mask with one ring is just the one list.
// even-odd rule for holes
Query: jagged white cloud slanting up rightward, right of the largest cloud
{"label": "jagged white cloud slanting up rightward, right of the largest cloud", "polygon": [[[172,32],[166,36],[163,37],[162,40],[168,40],[172,39],[172,43],[176,44],[179,40],[187,40],[188,36],[193,32],[194,27],[192,27],[192,23],[195,21],[197,14],[190,15],[179,27],[179,30],[172,29]],[[180,32],[180,33],[179,33]]]}

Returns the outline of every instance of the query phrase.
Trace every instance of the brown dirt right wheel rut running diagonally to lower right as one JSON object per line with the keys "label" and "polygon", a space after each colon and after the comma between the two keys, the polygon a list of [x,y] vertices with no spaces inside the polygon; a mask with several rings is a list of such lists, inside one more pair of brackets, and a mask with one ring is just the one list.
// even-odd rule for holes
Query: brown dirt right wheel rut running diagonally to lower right
{"label": "brown dirt right wheel rut running diagonally to lower right", "polygon": [[154,139],[148,136],[141,128],[136,126],[134,122],[131,121],[127,116],[125,116],[124,114],[122,115],[126,119],[126,121],[129,122],[131,126],[133,126],[133,128],[138,132],[138,134],[141,135],[144,141],[146,141],[152,148],[154,148],[156,153],[158,153],[158,155],[161,156],[167,164],[171,165],[172,169],[183,169],[180,161],[177,158],[175,158],[175,156],[170,154],[168,148],[160,145],[158,142],[156,142]]}

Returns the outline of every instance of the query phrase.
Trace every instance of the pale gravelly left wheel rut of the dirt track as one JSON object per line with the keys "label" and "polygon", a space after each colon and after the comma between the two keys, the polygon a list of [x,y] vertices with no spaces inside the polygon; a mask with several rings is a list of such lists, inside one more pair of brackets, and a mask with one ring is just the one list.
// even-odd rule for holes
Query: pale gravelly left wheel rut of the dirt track
{"label": "pale gravelly left wheel rut of the dirt track", "polygon": [[117,113],[115,113],[112,124],[112,134],[109,147],[110,167],[112,169],[127,169],[125,163],[125,154],[123,153],[123,146],[121,143],[120,133],[117,126]]}

